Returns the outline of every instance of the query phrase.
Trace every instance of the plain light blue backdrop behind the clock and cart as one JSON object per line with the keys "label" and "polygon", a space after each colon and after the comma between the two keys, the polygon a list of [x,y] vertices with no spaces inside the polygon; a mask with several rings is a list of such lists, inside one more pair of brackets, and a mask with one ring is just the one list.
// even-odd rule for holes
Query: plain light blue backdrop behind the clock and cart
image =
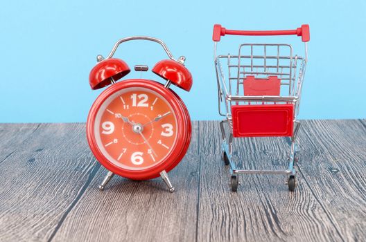
{"label": "plain light blue backdrop behind the clock and cart", "polygon": [[[0,122],[85,122],[101,91],[89,88],[96,55],[131,35],[163,39],[186,56],[194,82],[177,91],[193,120],[216,120],[212,27],[268,30],[311,26],[299,118],[365,118],[366,1],[3,1],[0,6]],[[240,39],[242,38],[242,39]],[[298,37],[259,39],[295,43]],[[230,45],[229,41],[234,41]],[[237,53],[251,37],[223,37]],[[221,44],[221,43],[220,43]],[[234,48],[233,48],[234,46]],[[122,45],[116,57],[150,68],[166,59],[155,43]],[[128,77],[139,77],[130,73]],[[155,75],[143,77],[159,80]]]}

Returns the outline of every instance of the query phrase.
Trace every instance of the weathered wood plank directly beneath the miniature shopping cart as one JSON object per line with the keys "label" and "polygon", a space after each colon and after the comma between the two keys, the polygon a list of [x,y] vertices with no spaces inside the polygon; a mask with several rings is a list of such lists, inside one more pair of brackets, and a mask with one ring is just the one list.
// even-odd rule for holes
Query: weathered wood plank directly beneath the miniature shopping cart
{"label": "weathered wood plank directly beneath the miniature shopping cart", "polygon": [[[200,136],[210,138],[200,145],[198,241],[342,241],[339,227],[301,174],[293,194],[284,176],[263,175],[240,176],[242,185],[232,193],[229,170],[221,160],[218,123],[200,123]],[[284,138],[245,138],[235,140],[234,151],[246,168],[286,169],[289,146]],[[306,165],[311,164],[301,164]]]}

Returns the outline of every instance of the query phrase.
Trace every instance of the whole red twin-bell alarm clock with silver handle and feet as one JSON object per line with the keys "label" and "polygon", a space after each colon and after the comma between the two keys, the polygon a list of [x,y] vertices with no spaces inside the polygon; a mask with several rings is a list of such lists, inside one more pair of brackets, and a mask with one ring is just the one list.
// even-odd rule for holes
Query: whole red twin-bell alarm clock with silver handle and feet
{"label": "whole red twin-bell alarm clock with silver handle and feet", "polygon": [[[169,59],[157,62],[153,73],[164,80],[128,79],[130,68],[122,59],[113,58],[118,46],[131,40],[155,41]],[[171,84],[189,91],[192,75],[184,66],[184,57],[174,59],[168,47],[153,37],[127,37],[114,45],[110,55],[97,57],[98,64],[89,75],[92,89],[105,89],[87,118],[87,140],[96,159],[109,171],[99,189],[104,189],[114,174],[132,180],[161,176],[169,188],[174,187],[167,172],[184,157],[191,141],[191,120]],[[148,71],[148,66],[134,66]],[[117,82],[121,80],[120,82]]]}

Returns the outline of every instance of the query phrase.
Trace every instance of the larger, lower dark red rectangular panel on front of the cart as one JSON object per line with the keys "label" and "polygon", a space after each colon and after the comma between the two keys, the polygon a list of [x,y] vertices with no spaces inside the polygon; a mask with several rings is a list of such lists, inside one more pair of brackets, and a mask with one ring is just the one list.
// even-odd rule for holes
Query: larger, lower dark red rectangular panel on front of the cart
{"label": "larger, lower dark red rectangular panel on front of the cart", "polygon": [[293,136],[293,104],[232,106],[234,137]]}

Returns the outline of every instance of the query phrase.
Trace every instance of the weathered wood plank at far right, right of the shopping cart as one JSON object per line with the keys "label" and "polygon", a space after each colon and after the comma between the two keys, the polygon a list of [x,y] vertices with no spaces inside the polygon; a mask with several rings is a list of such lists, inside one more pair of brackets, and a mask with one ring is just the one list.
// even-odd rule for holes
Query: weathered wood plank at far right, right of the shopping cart
{"label": "weathered wood plank at far right, right of the shopping cart", "polygon": [[366,239],[366,126],[313,120],[299,134],[299,171],[345,241]]}

